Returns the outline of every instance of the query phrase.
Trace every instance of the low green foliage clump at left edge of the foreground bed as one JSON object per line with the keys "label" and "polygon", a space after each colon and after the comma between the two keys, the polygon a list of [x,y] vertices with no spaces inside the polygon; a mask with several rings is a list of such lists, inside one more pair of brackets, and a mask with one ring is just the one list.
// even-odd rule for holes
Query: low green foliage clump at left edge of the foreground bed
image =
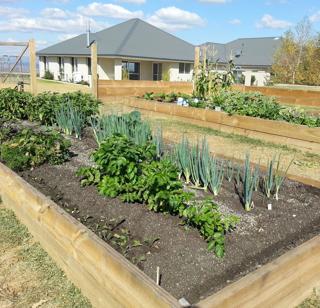
{"label": "low green foliage clump at left edge of the foreground bed", "polygon": [[49,135],[24,129],[1,146],[1,157],[17,171],[34,166],[60,164],[70,157],[70,140],[52,131]]}

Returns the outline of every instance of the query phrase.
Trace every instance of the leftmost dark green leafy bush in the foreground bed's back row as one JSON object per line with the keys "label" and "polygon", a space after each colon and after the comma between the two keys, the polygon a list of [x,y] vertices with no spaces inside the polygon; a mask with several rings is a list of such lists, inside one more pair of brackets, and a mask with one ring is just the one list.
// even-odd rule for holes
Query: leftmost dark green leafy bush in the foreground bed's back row
{"label": "leftmost dark green leafy bush in the foreground bed's back row", "polygon": [[26,119],[25,108],[32,100],[29,92],[20,92],[11,88],[0,89],[0,118],[4,121],[10,119]]}

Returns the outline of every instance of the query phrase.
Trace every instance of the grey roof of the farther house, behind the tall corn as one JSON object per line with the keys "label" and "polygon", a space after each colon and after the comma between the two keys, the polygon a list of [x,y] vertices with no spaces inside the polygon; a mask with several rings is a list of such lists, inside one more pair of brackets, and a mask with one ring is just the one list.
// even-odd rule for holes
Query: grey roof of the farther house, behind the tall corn
{"label": "grey roof of the farther house, behind the tall corn", "polygon": [[[219,59],[219,63],[226,63],[230,53],[235,56],[233,61],[235,66],[252,66],[265,67],[271,66],[270,57],[274,54],[275,46],[277,46],[283,37],[253,37],[238,38],[226,44],[205,43],[209,51],[217,50],[218,53],[213,61]],[[204,44],[199,45],[200,47]],[[207,52],[208,54],[208,52]]]}

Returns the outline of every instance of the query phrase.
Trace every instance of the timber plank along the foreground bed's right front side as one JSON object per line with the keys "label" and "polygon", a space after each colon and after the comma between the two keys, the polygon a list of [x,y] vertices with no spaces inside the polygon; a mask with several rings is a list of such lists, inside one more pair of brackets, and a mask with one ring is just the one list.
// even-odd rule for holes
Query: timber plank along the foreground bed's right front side
{"label": "timber plank along the foreground bed's right front side", "polygon": [[318,235],[192,307],[295,307],[319,283],[319,266]]}

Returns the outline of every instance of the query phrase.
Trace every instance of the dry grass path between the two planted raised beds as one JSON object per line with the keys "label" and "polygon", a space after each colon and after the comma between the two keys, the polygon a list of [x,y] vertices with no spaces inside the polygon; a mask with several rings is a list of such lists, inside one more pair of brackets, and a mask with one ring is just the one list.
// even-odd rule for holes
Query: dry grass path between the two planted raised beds
{"label": "dry grass path between the two planted raised beds", "polygon": [[[112,108],[114,111],[122,112],[123,102],[108,102],[101,106],[101,110],[104,113],[108,113]],[[146,116],[142,116],[146,119]],[[245,136],[228,134],[218,130],[201,127],[194,124],[184,123],[181,121],[174,121],[169,119],[161,119],[156,117],[148,117],[152,127],[156,126],[157,122],[162,122],[163,137],[180,142],[182,134],[184,133],[190,141],[196,141],[198,134],[200,137],[206,134],[207,141],[210,145],[210,150],[226,155],[235,155],[235,157],[244,158],[246,149],[250,150],[250,157],[253,162],[258,162],[261,156],[261,163],[267,164],[268,158],[272,158],[275,152],[281,154],[281,162],[284,168],[286,168],[291,162],[293,156],[294,160],[315,162],[315,166],[312,168],[301,167],[296,164],[292,164],[290,172],[303,175],[312,179],[320,180],[320,156],[310,153],[304,153],[297,149],[290,148],[288,146],[276,145],[271,142],[263,142],[261,140],[252,139]]]}

